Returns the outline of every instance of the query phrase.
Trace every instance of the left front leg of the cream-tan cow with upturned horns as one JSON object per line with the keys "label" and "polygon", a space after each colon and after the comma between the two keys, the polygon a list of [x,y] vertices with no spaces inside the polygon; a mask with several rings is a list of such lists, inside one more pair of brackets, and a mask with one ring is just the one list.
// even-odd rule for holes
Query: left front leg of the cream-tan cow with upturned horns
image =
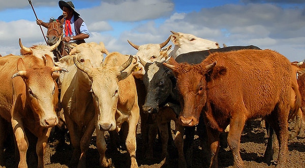
{"label": "left front leg of the cream-tan cow with upturned horns", "polygon": [[100,165],[102,167],[110,167],[112,166],[112,160],[111,158],[106,158],[105,152],[106,152],[106,142],[105,142],[105,136],[104,136],[104,131],[101,131],[96,127],[96,132],[97,132],[97,148],[100,154]]}

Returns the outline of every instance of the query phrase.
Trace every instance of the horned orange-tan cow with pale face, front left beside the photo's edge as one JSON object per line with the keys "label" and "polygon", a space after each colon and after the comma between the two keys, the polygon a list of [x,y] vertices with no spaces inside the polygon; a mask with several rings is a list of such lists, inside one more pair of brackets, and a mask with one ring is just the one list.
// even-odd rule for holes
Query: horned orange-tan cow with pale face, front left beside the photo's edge
{"label": "horned orange-tan cow with pale face, front left beside the photo's edge", "polygon": [[[51,57],[8,55],[0,58],[0,117],[12,124],[19,150],[18,167],[27,167],[29,146],[25,128],[37,138],[38,167],[44,167],[44,154],[51,128],[57,124],[55,105],[58,101],[57,84],[52,73],[66,71],[53,67]],[[12,79],[13,78],[13,79]],[[4,133],[0,130],[0,137]],[[3,161],[3,139],[0,139],[0,161]],[[3,165],[3,162],[0,162]]]}

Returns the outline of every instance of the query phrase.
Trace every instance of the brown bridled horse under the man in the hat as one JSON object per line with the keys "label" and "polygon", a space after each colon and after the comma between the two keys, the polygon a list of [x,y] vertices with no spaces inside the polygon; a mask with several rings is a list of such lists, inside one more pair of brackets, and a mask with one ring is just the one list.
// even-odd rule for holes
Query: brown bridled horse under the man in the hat
{"label": "brown bridled horse under the man in the hat", "polygon": [[75,47],[76,44],[64,43],[63,20],[50,18],[47,28],[48,31],[46,37],[49,46],[54,45],[57,40],[61,40],[58,47],[53,51],[55,56],[54,61],[58,62],[60,58],[69,55],[70,51]]}

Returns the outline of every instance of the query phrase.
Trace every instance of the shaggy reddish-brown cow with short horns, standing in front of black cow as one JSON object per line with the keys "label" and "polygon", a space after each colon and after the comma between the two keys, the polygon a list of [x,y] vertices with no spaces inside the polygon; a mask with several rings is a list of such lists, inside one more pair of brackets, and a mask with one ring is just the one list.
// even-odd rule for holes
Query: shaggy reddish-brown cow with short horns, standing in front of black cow
{"label": "shaggy reddish-brown cow with short horns, standing in front of black cow", "polygon": [[258,117],[265,117],[279,137],[277,166],[286,167],[292,71],[286,57],[271,50],[240,50],[212,53],[197,65],[173,59],[164,64],[177,78],[181,123],[196,125],[203,110],[210,167],[218,167],[219,133],[228,124],[234,167],[245,167],[239,153],[241,132],[248,119]]}

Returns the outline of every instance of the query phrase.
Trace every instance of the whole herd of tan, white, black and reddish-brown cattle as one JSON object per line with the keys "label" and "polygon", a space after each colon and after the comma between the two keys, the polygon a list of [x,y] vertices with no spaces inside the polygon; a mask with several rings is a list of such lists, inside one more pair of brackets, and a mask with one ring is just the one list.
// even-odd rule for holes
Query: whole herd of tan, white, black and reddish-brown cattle
{"label": "whole herd of tan, white, black and reddish-brown cattle", "polygon": [[[169,157],[170,121],[175,123],[179,167],[191,167],[190,146],[199,123],[205,125],[210,147],[210,160],[203,161],[218,167],[219,135],[229,128],[227,143],[234,167],[245,167],[239,153],[240,136],[252,118],[264,119],[276,133],[277,167],[286,167],[288,139],[298,135],[305,112],[303,62],[290,62],[256,46],[220,48],[215,41],[171,33],[161,44],[138,46],[128,40],[138,50],[136,56],[109,53],[102,42],[92,42],[74,46],[58,61],[54,55],[62,53],[58,48],[63,42],[57,38],[52,38],[50,46],[31,48],[19,39],[20,56],[0,57],[0,167],[5,166],[8,136],[14,136],[18,167],[27,167],[30,141],[26,130],[38,138],[38,167],[44,167],[48,137],[60,122],[69,130],[74,149],[71,167],[86,167],[94,131],[100,166],[112,165],[105,156],[104,132],[121,131],[126,134],[130,167],[138,167],[137,127],[141,127],[145,158],[153,158],[158,133],[162,156]],[[169,41],[173,50],[171,45],[165,47]],[[289,132],[288,121],[293,118],[297,122]],[[267,144],[265,157],[270,161],[272,146]]]}

